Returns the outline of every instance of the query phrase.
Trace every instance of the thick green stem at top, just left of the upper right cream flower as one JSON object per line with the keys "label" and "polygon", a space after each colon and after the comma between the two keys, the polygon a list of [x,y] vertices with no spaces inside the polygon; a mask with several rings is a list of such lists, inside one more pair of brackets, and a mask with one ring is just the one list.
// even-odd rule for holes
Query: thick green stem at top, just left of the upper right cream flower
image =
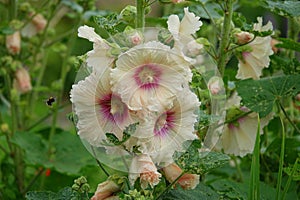
{"label": "thick green stem at top, just left of the upper right cream flower", "polygon": [[233,13],[233,1],[227,0],[224,9],[224,22],[221,32],[221,41],[218,55],[218,69],[221,76],[224,75],[225,66],[228,62],[228,46],[230,43],[231,20]]}

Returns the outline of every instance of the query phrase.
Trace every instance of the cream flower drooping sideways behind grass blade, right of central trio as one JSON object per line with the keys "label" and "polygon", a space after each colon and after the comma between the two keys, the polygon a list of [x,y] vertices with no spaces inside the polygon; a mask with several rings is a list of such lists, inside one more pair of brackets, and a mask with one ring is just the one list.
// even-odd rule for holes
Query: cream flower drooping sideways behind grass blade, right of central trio
{"label": "cream flower drooping sideways behind grass blade, right of central trio", "polygon": [[[229,99],[228,107],[239,108],[241,98],[236,93]],[[242,111],[249,111],[245,107],[240,108]],[[245,156],[252,153],[256,140],[258,128],[257,113],[251,113],[247,116],[237,119],[234,123],[229,123],[225,126],[224,132],[220,138],[220,147],[224,149],[226,154],[236,156]],[[263,128],[269,123],[272,114],[260,119],[260,134],[263,134]]]}

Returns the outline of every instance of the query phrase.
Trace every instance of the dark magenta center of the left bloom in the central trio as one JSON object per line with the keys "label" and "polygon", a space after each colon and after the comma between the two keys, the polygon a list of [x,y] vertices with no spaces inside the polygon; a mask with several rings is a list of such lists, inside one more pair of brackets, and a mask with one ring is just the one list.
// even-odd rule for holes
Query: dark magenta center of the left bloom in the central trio
{"label": "dark magenta center of the left bloom in the central trio", "polygon": [[128,117],[128,108],[121,98],[109,93],[98,100],[100,112],[106,120],[122,123]]}

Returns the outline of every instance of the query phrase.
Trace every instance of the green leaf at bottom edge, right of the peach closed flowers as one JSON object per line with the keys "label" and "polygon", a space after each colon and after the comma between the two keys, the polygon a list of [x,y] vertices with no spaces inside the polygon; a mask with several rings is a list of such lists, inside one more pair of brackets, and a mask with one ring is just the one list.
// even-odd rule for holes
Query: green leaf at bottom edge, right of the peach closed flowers
{"label": "green leaf at bottom edge, right of the peach closed flowers", "polygon": [[178,187],[174,190],[163,195],[160,200],[211,200],[211,199],[220,199],[220,195],[212,190],[210,187],[203,183],[199,183],[197,187],[193,190],[183,190],[181,187]]}

